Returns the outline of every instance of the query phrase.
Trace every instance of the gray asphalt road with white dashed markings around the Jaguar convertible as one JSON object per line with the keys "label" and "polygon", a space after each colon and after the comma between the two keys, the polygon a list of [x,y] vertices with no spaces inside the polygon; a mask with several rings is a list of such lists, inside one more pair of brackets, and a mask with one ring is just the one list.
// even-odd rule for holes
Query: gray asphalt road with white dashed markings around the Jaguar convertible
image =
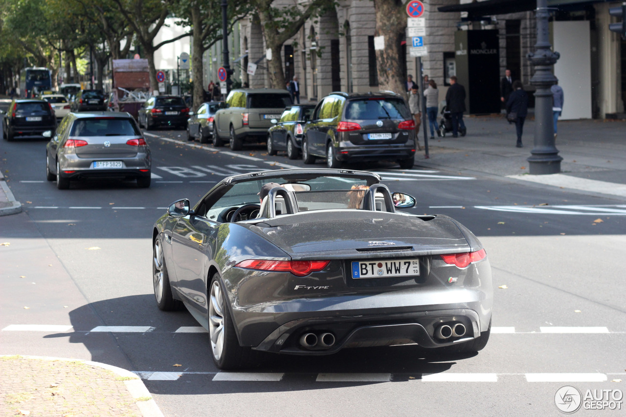
{"label": "gray asphalt road with white dashed markings around the Jaguar convertible", "polygon": [[24,205],[0,217],[10,244],[0,247],[0,354],[135,371],[166,416],[547,416],[560,415],[554,396],[566,384],[583,394],[626,390],[626,202],[390,164],[347,168],[381,173],[418,199],[412,212],[450,215],[485,244],[496,287],[487,347],[457,358],[416,346],[266,356],[247,373],[218,372],[190,314],[156,308],[151,226],[173,200],[193,203],[226,175],[304,165],[269,157],[263,145],[230,152],[189,146],[182,131],[149,133],[148,189],[95,182],[61,191],[45,180],[45,141],[0,142],[0,168]]}

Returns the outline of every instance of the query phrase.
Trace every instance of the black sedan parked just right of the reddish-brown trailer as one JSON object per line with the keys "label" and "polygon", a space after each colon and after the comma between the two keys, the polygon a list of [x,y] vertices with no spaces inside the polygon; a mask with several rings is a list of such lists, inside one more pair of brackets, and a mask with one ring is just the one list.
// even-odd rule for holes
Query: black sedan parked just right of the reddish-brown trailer
{"label": "black sedan parked just right of the reddish-brown trailer", "polygon": [[139,126],[150,130],[158,126],[185,129],[189,108],[178,96],[158,96],[149,98],[139,109]]}

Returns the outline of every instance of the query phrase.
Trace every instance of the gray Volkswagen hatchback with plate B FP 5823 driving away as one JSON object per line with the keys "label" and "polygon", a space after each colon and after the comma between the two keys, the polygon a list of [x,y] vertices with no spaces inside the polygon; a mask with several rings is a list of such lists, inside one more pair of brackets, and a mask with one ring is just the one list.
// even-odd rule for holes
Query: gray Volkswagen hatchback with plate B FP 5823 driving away
{"label": "gray Volkswagen hatchback with plate B FP 5823 driving away", "polygon": [[69,113],[46,145],[46,178],[59,189],[70,180],[95,178],[150,187],[150,165],[150,148],[128,113]]}

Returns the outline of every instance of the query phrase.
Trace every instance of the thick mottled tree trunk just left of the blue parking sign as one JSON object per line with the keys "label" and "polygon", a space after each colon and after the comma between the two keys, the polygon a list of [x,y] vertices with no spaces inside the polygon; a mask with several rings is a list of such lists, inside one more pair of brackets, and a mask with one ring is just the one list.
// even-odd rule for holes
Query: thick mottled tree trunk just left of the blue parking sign
{"label": "thick mottled tree trunk just left of the blue parking sign", "polygon": [[[378,84],[381,90],[391,90],[408,100],[404,86],[401,41],[406,33],[406,12],[404,4],[396,0],[374,0],[376,9],[376,36],[384,36],[385,48],[376,51]],[[419,78],[419,74],[417,75]]]}

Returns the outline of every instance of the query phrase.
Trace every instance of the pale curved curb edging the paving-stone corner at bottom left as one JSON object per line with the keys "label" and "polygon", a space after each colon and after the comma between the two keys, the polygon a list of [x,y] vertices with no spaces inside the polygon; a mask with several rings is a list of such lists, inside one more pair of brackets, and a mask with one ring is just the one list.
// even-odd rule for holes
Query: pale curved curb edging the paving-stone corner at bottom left
{"label": "pale curved curb edging the paving-stone corner at bottom left", "polygon": [[[16,356],[16,355],[0,355],[0,358],[6,358],[7,356]],[[106,369],[115,373],[117,376],[121,376],[123,378],[132,378],[124,381],[126,389],[131,394],[135,401],[136,406],[139,408],[141,415],[143,417],[165,417],[163,413],[158,408],[155,403],[154,398],[146,388],[141,378],[136,376],[136,374],[131,371],[126,371],[126,369],[118,368],[117,366],[108,365],[106,363],[93,362],[93,361],[85,361],[84,359],[71,359],[71,358],[53,358],[51,356],[28,356],[28,355],[18,355],[21,358],[28,359],[43,359],[46,361],[68,361],[68,362],[81,362],[90,366],[98,366],[98,368]],[[147,401],[146,397],[149,397]]]}

